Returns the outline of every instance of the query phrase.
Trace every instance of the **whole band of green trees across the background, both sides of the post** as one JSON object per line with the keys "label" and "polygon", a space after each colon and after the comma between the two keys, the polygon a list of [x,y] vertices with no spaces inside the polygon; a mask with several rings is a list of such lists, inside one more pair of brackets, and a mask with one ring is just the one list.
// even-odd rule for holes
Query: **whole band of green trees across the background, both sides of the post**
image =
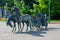
{"label": "whole band of green trees across the background, both sides of the post", "polygon": [[[31,15],[36,16],[37,13],[49,13],[50,1],[50,17],[60,14],[60,0],[34,0],[39,2],[39,5],[33,3],[33,0],[0,0],[0,7],[6,10],[12,10],[14,6],[18,7],[21,14],[30,12]],[[34,9],[30,9],[27,5],[32,5]],[[28,13],[29,14],[29,13]]]}

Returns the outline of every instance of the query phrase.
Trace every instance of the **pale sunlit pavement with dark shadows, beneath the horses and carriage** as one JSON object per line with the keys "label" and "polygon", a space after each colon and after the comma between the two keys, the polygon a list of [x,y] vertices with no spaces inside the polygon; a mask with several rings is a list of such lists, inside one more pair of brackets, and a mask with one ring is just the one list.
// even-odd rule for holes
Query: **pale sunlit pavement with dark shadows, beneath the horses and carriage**
{"label": "pale sunlit pavement with dark shadows, beneath the horses and carriage", "polygon": [[48,30],[20,34],[11,32],[5,22],[0,22],[0,40],[60,40],[60,24],[49,24]]}

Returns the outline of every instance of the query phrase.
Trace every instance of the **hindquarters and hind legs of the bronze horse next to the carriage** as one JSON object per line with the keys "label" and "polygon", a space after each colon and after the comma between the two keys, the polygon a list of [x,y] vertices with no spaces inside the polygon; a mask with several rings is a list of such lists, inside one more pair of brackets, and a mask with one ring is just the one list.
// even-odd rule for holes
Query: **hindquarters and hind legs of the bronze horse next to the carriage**
{"label": "hindquarters and hind legs of the bronze horse next to the carriage", "polygon": [[30,31],[31,31],[31,16],[29,14],[21,15],[21,22],[23,24],[22,30],[24,28],[24,23],[26,23],[27,25],[26,31],[28,31],[28,26],[30,27]]}

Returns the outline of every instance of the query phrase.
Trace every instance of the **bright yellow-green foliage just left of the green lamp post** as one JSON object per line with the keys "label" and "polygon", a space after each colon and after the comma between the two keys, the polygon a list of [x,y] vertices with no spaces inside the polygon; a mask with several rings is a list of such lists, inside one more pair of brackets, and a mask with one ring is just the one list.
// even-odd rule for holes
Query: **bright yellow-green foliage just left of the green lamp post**
{"label": "bright yellow-green foliage just left of the green lamp post", "polygon": [[48,14],[48,2],[47,0],[38,0],[39,5],[33,4],[35,13]]}

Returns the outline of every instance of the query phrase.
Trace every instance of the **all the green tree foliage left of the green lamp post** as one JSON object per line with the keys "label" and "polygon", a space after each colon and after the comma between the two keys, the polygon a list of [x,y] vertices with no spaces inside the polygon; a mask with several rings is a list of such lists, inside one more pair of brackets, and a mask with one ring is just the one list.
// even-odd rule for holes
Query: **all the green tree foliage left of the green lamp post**
{"label": "all the green tree foliage left of the green lamp post", "polygon": [[32,4],[34,9],[29,9],[29,7],[25,5],[25,1],[28,4],[33,3],[32,1],[27,2],[27,0],[2,0],[2,3],[7,10],[12,10],[14,6],[18,7],[21,14],[28,13],[29,11],[33,16],[35,16],[37,13],[48,14],[48,0],[34,0],[36,2],[39,2],[39,5],[35,3]]}

